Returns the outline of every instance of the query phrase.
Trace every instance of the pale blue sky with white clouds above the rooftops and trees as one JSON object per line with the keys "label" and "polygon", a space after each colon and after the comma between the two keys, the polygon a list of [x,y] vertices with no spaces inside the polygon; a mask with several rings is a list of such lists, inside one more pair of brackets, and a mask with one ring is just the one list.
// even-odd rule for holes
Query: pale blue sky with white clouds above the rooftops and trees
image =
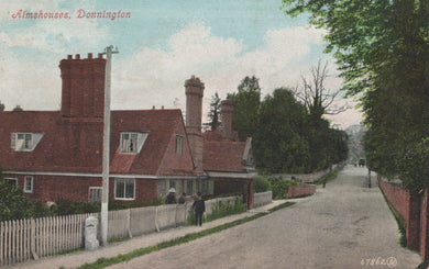
{"label": "pale blue sky with white clouds above the rooftops and trees", "polygon": [[[323,54],[326,31],[310,26],[306,15],[285,15],[280,5],[280,0],[0,0],[0,101],[6,110],[59,110],[61,59],[86,58],[109,45],[119,51],[112,60],[113,110],[184,110],[184,82],[195,75],[206,87],[207,121],[211,97],[235,92],[245,76],[260,79],[265,97],[300,87],[318,60],[328,63],[326,87],[339,89],[336,61]],[[24,19],[24,11],[68,18]],[[105,11],[117,18],[87,18]],[[118,18],[121,13],[129,16]],[[344,102],[355,104],[334,105]],[[356,109],[328,117],[342,128],[362,121]]]}

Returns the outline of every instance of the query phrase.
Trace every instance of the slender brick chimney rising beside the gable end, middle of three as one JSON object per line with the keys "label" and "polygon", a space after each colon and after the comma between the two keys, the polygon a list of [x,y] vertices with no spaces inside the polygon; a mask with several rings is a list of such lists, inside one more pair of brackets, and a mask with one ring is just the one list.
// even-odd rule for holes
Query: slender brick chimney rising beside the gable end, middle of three
{"label": "slender brick chimney rising beside the gable end, middle of three", "polygon": [[198,172],[202,172],[201,114],[204,90],[205,85],[195,76],[185,81],[186,132]]}

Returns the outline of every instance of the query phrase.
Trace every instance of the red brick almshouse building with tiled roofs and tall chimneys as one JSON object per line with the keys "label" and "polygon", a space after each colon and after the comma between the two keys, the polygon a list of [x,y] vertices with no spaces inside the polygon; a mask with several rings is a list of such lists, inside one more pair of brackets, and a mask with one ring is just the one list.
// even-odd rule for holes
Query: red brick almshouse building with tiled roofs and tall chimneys
{"label": "red brick almshouse building with tiled roofs and tall chimneys", "polygon": [[[10,182],[42,202],[97,202],[102,191],[106,59],[101,54],[86,59],[69,55],[59,68],[61,111],[0,112],[0,166]],[[250,141],[231,136],[229,112],[229,136],[202,134],[204,83],[193,77],[185,88],[186,124],[180,110],[112,111],[109,199],[148,200],[175,188],[188,195],[240,193],[252,206]]]}

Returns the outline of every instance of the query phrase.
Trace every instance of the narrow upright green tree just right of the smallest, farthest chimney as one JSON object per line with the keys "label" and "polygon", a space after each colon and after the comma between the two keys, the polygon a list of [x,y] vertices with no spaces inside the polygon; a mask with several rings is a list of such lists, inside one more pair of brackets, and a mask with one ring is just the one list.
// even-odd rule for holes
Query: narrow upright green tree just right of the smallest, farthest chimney
{"label": "narrow upright green tree just right of the smallest, farthest chimney", "polygon": [[235,100],[232,128],[239,132],[240,141],[253,137],[256,131],[257,109],[261,103],[261,88],[254,76],[245,77],[238,87],[238,92],[228,94]]}

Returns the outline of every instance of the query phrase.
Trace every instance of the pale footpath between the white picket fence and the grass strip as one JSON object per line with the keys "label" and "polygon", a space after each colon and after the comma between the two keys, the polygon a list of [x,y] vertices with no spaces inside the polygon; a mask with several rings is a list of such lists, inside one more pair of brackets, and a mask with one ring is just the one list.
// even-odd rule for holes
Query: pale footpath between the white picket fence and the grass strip
{"label": "pale footpath between the white picket fence and the grass strip", "polygon": [[212,222],[204,223],[202,226],[180,226],[176,228],[169,228],[161,231],[158,233],[152,233],[141,236],[132,237],[124,242],[111,243],[107,247],[100,247],[94,251],[76,251],[72,254],[48,256],[40,258],[38,260],[31,260],[29,262],[10,266],[9,268],[25,268],[25,269],[50,269],[50,268],[77,268],[85,264],[95,262],[99,258],[111,258],[119,254],[128,254],[139,248],[155,246],[163,242],[168,242],[183,237],[187,234],[199,233],[205,229],[220,226],[226,223],[230,223],[237,220],[249,217],[261,212],[268,212],[270,209],[275,208],[287,200],[275,200],[270,204],[252,209],[245,213],[235,214],[222,218],[215,220]]}

